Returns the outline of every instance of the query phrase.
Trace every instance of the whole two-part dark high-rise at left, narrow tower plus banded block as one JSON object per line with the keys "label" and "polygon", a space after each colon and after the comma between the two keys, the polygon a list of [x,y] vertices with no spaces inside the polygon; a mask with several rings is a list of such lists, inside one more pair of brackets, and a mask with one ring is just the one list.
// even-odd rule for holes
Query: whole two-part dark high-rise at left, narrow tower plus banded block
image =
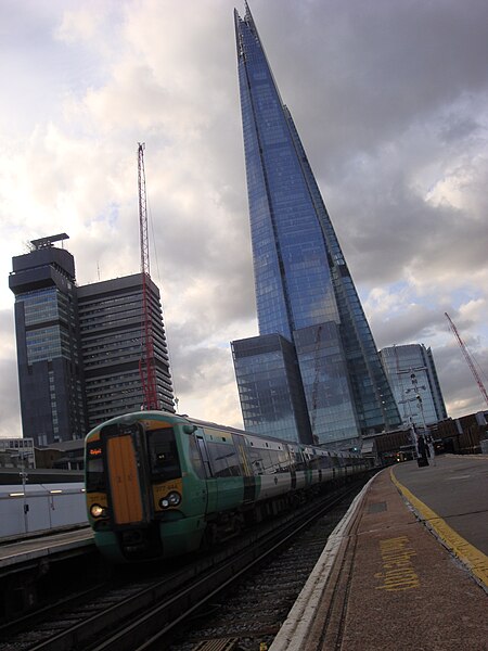
{"label": "whole two-part dark high-rise at left, narrow tower plus banded block", "polygon": [[[95,424],[143,404],[142,283],[137,273],[77,286],[75,259],[55,242],[33,240],[12,258],[22,425],[36,446],[82,438]],[[156,386],[174,411],[159,291],[149,283]]]}

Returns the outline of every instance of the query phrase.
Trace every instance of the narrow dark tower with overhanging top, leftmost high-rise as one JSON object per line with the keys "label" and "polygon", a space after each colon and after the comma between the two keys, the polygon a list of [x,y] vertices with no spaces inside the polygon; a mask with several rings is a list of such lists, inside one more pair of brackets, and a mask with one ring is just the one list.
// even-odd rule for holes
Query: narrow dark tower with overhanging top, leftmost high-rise
{"label": "narrow dark tower with overhanging top, leftmost high-rise", "polygon": [[33,240],[33,251],[12,258],[18,385],[24,435],[42,446],[81,438],[87,405],[77,329],[75,260],[54,242]]}

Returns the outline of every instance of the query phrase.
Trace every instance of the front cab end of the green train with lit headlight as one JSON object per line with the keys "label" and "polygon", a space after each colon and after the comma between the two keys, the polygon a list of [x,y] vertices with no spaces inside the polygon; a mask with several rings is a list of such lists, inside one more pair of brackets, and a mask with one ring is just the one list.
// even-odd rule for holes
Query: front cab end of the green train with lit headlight
{"label": "front cab end of the green train with lit headlight", "polygon": [[116,563],[198,547],[205,492],[171,422],[115,422],[87,439],[87,508],[95,544]]}

